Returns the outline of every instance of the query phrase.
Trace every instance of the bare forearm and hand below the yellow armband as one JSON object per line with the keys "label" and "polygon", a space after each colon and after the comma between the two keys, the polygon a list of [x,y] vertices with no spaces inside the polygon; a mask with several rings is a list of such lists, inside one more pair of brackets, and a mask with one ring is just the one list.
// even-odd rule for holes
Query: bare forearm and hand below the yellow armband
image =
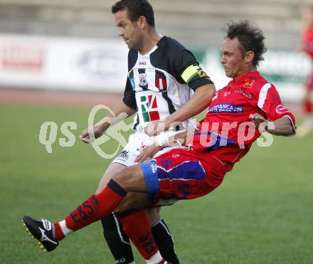
{"label": "bare forearm and hand below the yellow armband", "polygon": [[203,85],[202,87],[197,88],[186,105],[179,108],[179,110],[176,110],[169,117],[166,117],[166,120],[159,120],[150,123],[147,127],[145,127],[144,132],[152,137],[157,135],[159,132],[169,130],[169,127],[174,125],[175,122],[183,122],[190,117],[198,115],[200,112],[205,110],[206,107],[208,107],[215,93],[216,88],[214,85]]}

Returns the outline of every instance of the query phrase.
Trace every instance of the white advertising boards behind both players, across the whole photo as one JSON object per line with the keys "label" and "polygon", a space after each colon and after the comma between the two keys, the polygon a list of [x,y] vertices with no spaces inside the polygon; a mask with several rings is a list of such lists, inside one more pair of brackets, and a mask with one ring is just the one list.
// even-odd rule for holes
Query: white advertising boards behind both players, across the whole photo
{"label": "white advertising boards behind both players, across the whole photo", "polygon": [[[122,40],[0,34],[0,87],[122,93],[127,75]],[[311,70],[303,53],[267,51],[260,71],[282,98],[299,102]],[[218,49],[208,49],[201,65],[222,88],[229,81]]]}

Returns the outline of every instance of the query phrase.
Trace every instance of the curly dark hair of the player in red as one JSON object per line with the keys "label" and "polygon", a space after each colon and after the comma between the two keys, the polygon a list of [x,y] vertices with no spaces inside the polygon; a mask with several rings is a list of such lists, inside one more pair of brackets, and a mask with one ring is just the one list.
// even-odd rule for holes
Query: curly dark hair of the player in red
{"label": "curly dark hair of the player in red", "polygon": [[253,65],[258,66],[260,61],[264,60],[262,55],[267,51],[264,43],[265,36],[260,28],[256,25],[252,25],[247,20],[238,23],[228,23],[227,26],[226,38],[238,38],[243,56],[248,51],[253,51]]}

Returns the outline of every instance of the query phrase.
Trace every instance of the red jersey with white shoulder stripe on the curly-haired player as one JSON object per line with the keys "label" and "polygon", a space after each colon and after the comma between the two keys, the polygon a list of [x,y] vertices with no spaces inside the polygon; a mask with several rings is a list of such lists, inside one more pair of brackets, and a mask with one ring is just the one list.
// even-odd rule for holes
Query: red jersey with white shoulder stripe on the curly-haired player
{"label": "red jersey with white shoulder stripe on the curly-haired player", "polygon": [[282,104],[275,86],[256,71],[216,92],[193,137],[193,149],[210,152],[232,169],[260,136],[250,120],[255,113],[271,121],[287,116],[295,128],[295,117]]}

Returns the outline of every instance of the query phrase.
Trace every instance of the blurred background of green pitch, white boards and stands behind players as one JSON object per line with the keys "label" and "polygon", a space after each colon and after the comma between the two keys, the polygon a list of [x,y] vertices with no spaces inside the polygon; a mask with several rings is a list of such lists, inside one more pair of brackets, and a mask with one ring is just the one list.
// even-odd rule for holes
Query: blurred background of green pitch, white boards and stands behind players
{"label": "blurred background of green pitch, white boards and stands behind players", "polygon": [[[302,112],[312,59],[301,51],[302,11],[313,0],[150,2],[158,32],[193,51],[217,88],[228,83],[219,63],[226,23],[257,23],[268,48],[262,75],[275,84],[297,124],[307,118],[313,131],[313,115]],[[114,107],[122,98],[127,46],[117,36],[112,4],[0,0],[1,264],[115,263],[100,223],[51,254],[39,252],[21,225],[23,215],[51,221],[68,215],[95,191],[110,164],[79,135],[92,106]],[[103,115],[99,111],[95,119]],[[41,130],[46,122],[52,124],[46,130],[51,152]],[[131,132],[117,131],[125,139]],[[254,144],[212,194],[162,208],[181,263],[312,264],[313,137],[307,131],[303,138],[275,137],[270,147]],[[107,154],[123,147],[112,134],[102,137]],[[144,263],[136,250],[134,256]]]}

